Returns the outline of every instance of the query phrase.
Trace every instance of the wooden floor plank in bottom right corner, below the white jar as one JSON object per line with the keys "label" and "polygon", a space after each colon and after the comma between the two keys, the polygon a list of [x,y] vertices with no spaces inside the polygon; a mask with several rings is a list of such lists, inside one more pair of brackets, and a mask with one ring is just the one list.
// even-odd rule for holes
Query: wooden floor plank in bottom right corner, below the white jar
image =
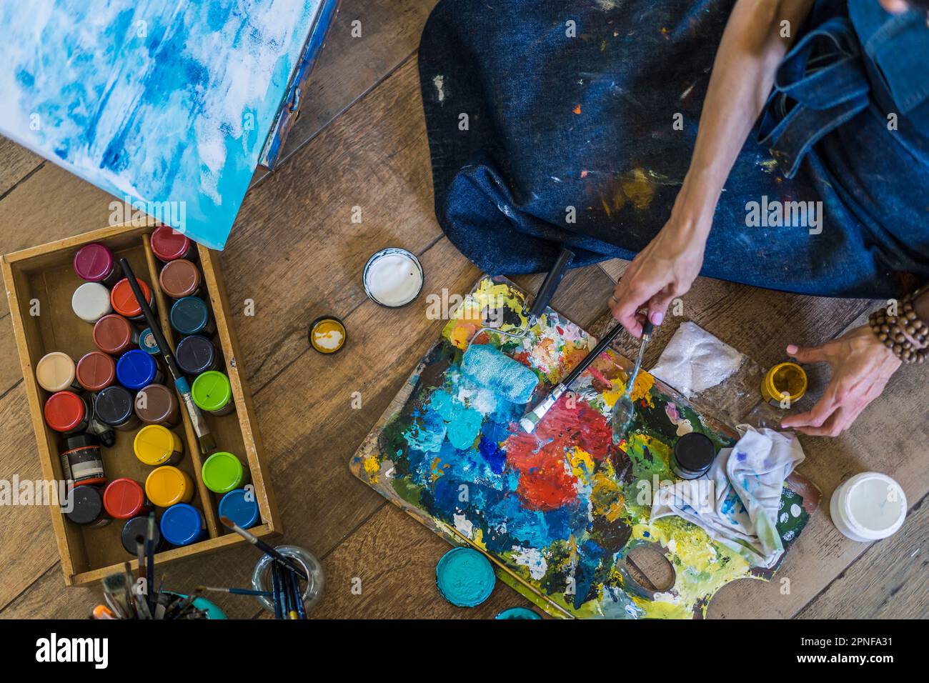
{"label": "wooden floor plank in bottom right corner, below the white jar", "polygon": [[929,504],[870,545],[797,614],[799,619],[929,619]]}

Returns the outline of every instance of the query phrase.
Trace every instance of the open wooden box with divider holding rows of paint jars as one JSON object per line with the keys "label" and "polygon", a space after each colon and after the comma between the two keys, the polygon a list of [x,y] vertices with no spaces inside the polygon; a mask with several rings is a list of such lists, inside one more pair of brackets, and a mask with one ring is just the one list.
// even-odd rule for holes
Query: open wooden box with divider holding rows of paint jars
{"label": "open wooden box with divider holding rows of paint jars", "polygon": [[[158,286],[158,272],[162,264],[152,254],[149,245],[149,235],[153,228],[153,225],[115,226],[3,256],[3,277],[20,351],[23,386],[26,387],[39,460],[46,480],[62,479],[59,461],[62,439],[57,432],[46,426],[43,406],[48,393],[35,380],[35,363],[51,351],[63,351],[77,360],[88,351],[96,349],[92,338],[93,325],[80,320],[71,308],[72,293],[83,283],[72,267],[74,253],[86,243],[98,242],[110,247],[117,257],[125,257],[137,277],[150,284],[164,334],[169,343],[177,344],[177,336],[167,317],[170,300]],[[239,345],[229,325],[229,302],[218,259],[211,250],[200,245],[198,249],[203,286],[209,293],[216,320],[214,342],[222,350],[225,364],[225,367],[219,369],[229,375],[236,406],[232,414],[221,417],[205,414],[205,419],[216,436],[217,450],[235,453],[250,470],[250,484],[255,488],[255,499],[261,515],[260,524],[253,527],[251,532],[256,536],[281,533],[274,496],[268,483],[268,468],[261,455],[255,407],[242,364],[238,361]],[[36,310],[38,315],[34,314]],[[178,467],[188,472],[197,486],[199,494],[194,496],[191,505],[203,512],[208,538],[200,543],[159,553],[159,565],[244,542],[241,536],[228,532],[218,523],[217,505],[220,496],[209,491],[200,478],[200,467],[209,453],[200,452],[190,418],[183,409],[181,414],[183,428],[176,427],[175,431],[178,434],[183,431],[185,452]],[[145,481],[151,468],[140,463],[133,453],[135,434],[135,431],[116,430],[115,445],[103,449],[109,479],[128,477],[139,482]],[[161,512],[161,509],[156,508],[159,517]],[[96,583],[107,574],[120,571],[126,560],[131,561],[134,570],[137,569],[137,560],[130,558],[120,542],[123,527],[121,520],[114,519],[102,528],[85,528],[65,519],[57,504],[51,506],[51,515],[65,584]]]}

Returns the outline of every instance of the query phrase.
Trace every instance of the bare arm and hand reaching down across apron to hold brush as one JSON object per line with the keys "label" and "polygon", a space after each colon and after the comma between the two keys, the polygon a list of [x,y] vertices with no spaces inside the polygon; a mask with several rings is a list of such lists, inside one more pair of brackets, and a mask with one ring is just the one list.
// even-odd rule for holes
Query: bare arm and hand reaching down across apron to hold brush
{"label": "bare arm and hand reaching down across apron to hold brush", "polygon": [[[813,0],[739,0],[720,42],[687,177],[671,218],[630,264],[609,306],[631,335],[642,334],[636,312],[660,325],[668,305],[697,278],[713,213],[726,177],[774,85],[778,65]],[[790,22],[790,38],[781,22]]]}

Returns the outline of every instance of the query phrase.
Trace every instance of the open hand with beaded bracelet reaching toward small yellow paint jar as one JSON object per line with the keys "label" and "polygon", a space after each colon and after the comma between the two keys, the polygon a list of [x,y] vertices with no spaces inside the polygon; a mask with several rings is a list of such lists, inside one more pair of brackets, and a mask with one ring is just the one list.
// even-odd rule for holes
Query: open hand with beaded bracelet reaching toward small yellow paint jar
{"label": "open hand with beaded bracelet reaching toward small yellow paint jar", "polygon": [[828,362],[832,370],[826,393],[812,410],[780,421],[781,427],[793,427],[810,436],[837,437],[851,427],[902,364],[868,325],[818,347],[792,344],[787,353],[803,363]]}

